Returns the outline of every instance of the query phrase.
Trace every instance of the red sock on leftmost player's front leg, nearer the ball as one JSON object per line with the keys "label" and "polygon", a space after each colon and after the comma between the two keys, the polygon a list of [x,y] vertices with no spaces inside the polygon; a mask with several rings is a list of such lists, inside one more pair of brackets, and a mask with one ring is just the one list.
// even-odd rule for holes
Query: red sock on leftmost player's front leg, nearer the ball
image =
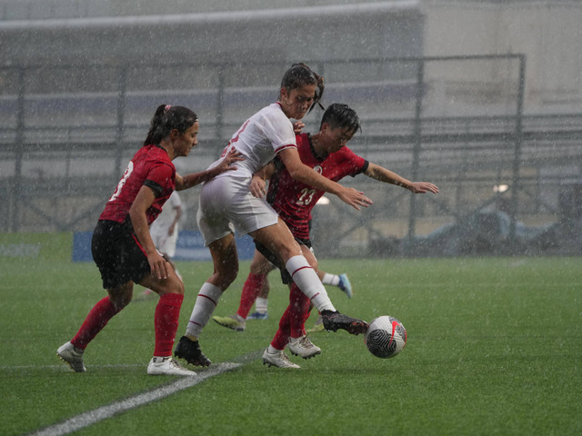
{"label": "red sock on leftmost player's front leg, nearer the ball", "polygon": [[154,324],[156,328],[156,349],[154,355],[167,357],[172,355],[174,338],[178,330],[178,318],[184,295],[179,293],[165,293],[157,302]]}

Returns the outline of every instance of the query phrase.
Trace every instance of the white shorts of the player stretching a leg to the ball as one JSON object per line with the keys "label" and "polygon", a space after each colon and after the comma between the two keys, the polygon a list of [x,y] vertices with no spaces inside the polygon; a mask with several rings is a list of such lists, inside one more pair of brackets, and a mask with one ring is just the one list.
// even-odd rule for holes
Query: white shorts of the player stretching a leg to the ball
{"label": "white shorts of the player stretching a leg to the ball", "polygon": [[228,233],[243,235],[276,224],[278,214],[249,191],[249,177],[223,176],[204,183],[196,221],[208,246]]}

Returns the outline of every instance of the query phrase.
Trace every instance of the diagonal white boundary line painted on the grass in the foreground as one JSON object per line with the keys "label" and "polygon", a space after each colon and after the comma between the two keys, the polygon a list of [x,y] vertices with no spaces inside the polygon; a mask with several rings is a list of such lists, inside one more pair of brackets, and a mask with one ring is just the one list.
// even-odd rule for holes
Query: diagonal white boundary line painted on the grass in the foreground
{"label": "diagonal white boundary line painted on the grass in the foreground", "polygon": [[51,425],[50,427],[45,427],[45,429],[33,431],[30,434],[42,436],[62,436],[88,427],[89,425],[95,424],[96,422],[111,418],[117,413],[129,411],[135,407],[147,404],[148,402],[161,400],[169,395],[176,393],[177,391],[184,391],[185,389],[195,386],[196,384],[205,381],[210,377],[214,377],[215,375],[218,375],[222,372],[232,371],[239,366],[242,366],[242,363],[220,363],[214,368],[209,368],[205,372],[198,373],[196,376],[182,377],[173,383],[160,386],[153,391],[140,393],[123,401],[115,401],[107,406],[99,407],[93,411],[85,411],[85,413],[76,415],[64,422]]}

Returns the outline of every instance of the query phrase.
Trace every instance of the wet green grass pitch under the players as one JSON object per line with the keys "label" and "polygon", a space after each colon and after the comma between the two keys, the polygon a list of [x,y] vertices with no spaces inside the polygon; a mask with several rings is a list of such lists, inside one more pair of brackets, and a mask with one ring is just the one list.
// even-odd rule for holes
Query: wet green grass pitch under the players
{"label": "wet green grass pitch under the players", "polygon": [[[22,238],[0,235],[0,245]],[[69,261],[70,235],[27,238],[41,243],[36,258],[0,255],[0,434],[44,429],[178,380],[146,375],[156,299],[115,316],[85,352],[88,372],[70,372],[55,350],[104,295],[98,272]],[[272,274],[268,321],[248,321],[246,332],[211,322],[201,337],[213,362],[241,366],[75,434],[582,434],[582,259],[322,259],[320,266],[350,276],[351,300],[327,288],[341,312],[404,323],[403,352],[381,360],[362,336],[321,332],[311,338],[322,355],[293,358],[300,370],[267,368],[260,352],[288,296]],[[186,282],[180,336],[211,264],[178,268]],[[236,311],[247,272],[242,263],[215,314]]]}

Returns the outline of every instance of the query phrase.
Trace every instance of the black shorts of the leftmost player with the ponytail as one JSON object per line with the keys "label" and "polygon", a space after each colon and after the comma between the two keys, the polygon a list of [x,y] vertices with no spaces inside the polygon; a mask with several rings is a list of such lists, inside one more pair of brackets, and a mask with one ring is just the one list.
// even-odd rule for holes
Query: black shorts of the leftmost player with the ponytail
{"label": "black shorts of the leftmost player with the ponytail", "polygon": [[105,289],[126,282],[141,282],[151,272],[146,253],[137,242],[129,220],[125,223],[98,221],[91,240],[91,253]]}

